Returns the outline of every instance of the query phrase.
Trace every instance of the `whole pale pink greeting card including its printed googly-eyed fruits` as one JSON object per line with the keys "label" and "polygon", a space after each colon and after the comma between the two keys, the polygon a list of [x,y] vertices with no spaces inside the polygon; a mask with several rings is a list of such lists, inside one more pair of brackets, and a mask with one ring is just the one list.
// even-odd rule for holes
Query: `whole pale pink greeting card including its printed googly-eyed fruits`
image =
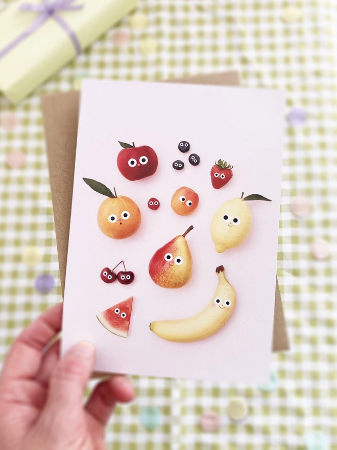
{"label": "whole pale pink greeting card including its printed googly-eyed fruits", "polygon": [[267,89],[85,81],[63,351],[89,340],[98,371],[268,379],[283,107]]}

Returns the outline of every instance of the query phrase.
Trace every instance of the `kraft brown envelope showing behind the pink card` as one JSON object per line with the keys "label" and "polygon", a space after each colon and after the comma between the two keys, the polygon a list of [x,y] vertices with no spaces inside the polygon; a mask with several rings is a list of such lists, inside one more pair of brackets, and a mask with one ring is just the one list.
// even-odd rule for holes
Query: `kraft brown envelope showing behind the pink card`
{"label": "kraft brown envelope showing behind the pink card", "polygon": [[[237,72],[226,72],[169,81],[237,86],[239,85],[239,76]],[[73,197],[79,98],[79,92],[52,94],[42,97],[42,113],[49,161],[62,294],[64,292],[71,200]],[[276,279],[273,351],[288,349],[289,343],[280,290]]]}

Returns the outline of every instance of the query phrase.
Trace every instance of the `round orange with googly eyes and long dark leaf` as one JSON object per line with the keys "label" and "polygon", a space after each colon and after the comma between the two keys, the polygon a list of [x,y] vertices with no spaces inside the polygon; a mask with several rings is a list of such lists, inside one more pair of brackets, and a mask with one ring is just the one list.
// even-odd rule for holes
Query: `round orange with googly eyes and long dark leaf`
{"label": "round orange with googly eyes and long dark leaf", "polygon": [[141,214],[135,202],[124,195],[114,194],[102,183],[91,178],[83,178],[94,191],[106,195],[97,214],[102,233],[112,239],[125,239],[132,236],[140,227]]}

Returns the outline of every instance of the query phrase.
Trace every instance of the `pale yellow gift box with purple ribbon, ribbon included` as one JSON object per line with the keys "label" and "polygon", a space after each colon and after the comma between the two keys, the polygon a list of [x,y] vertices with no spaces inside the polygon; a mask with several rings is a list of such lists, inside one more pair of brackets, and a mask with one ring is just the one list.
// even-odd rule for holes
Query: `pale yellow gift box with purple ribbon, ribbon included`
{"label": "pale yellow gift box with purple ribbon, ribbon included", "polygon": [[137,0],[18,0],[0,13],[0,92],[17,103],[136,7]]}

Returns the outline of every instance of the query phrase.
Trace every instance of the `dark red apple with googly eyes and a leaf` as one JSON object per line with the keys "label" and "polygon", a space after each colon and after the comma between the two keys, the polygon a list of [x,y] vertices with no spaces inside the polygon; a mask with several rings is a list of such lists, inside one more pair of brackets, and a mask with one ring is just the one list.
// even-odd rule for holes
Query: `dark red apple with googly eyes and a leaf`
{"label": "dark red apple with googly eyes and a leaf", "polygon": [[158,156],[152,147],[141,145],[135,147],[118,141],[123,149],[117,156],[117,167],[122,175],[130,181],[153,175],[158,167]]}

